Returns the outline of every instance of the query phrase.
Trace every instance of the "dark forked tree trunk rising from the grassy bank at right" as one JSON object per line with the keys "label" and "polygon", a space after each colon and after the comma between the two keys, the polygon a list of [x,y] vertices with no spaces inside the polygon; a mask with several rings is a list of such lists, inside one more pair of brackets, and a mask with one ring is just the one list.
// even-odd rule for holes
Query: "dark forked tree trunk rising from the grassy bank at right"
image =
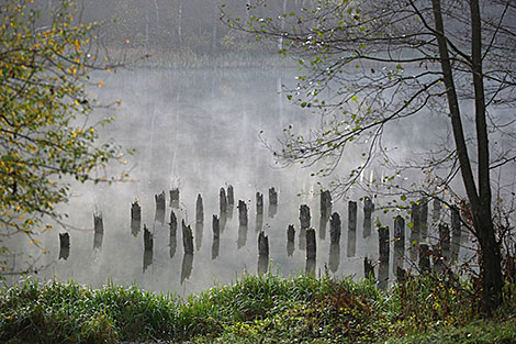
{"label": "dark forked tree trunk rising from the grassy bank at right", "polygon": [[460,164],[462,180],[471,204],[474,234],[481,247],[480,269],[482,276],[482,313],[491,317],[494,309],[502,303],[502,268],[500,246],[494,235],[491,220],[491,182],[489,169],[489,141],[485,122],[485,101],[482,81],[482,41],[481,20],[478,0],[470,1],[472,29],[472,74],[475,91],[475,124],[476,144],[479,154],[479,190],[478,192],[473,173],[468,156],[463,126],[460,116],[459,102],[453,84],[453,75],[448,53],[448,42],[445,36],[440,0],[433,0],[433,11],[436,25],[436,37],[439,46],[439,57],[450,110],[453,138]]}

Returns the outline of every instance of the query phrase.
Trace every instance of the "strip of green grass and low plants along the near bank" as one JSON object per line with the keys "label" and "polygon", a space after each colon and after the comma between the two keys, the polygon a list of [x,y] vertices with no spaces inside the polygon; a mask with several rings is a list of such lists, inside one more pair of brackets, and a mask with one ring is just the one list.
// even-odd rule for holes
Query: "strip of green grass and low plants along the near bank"
{"label": "strip of green grass and low plants along the near bank", "polygon": [[516,343],[516,286],[505,292],[482,321],[473,284],[431,276],[383,292],[369,280],[246,275],[186,301],[27,279],[0,291],[0,342]]}

